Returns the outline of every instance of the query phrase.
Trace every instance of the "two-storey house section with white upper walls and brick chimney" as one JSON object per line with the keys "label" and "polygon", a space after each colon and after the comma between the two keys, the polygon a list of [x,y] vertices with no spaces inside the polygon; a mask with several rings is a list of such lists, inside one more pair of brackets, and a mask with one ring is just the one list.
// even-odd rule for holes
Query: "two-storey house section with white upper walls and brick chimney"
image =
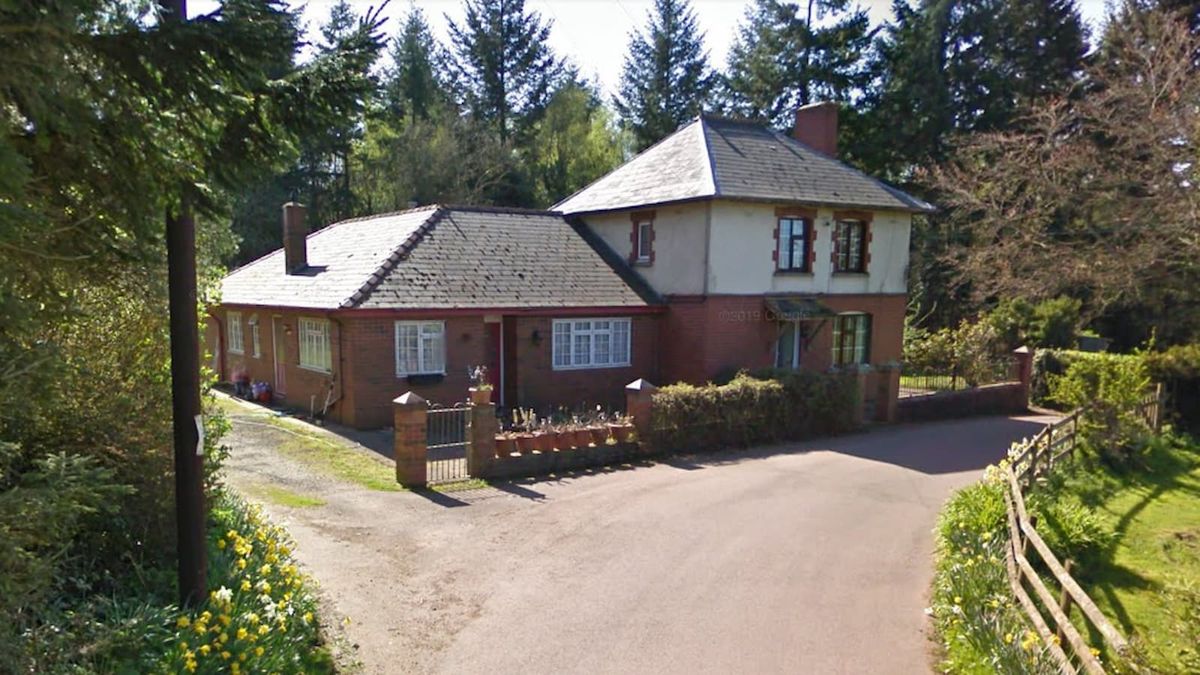
{"label": "two-storey house section with white upper walls and brick chimney", "polygon": [[890,418],[912,216],[932,207],[836,148],[834,103],[800,108],[794,137],[701,115],[554,207],[664,298],[664,382],[874,366],[865,398]]}

